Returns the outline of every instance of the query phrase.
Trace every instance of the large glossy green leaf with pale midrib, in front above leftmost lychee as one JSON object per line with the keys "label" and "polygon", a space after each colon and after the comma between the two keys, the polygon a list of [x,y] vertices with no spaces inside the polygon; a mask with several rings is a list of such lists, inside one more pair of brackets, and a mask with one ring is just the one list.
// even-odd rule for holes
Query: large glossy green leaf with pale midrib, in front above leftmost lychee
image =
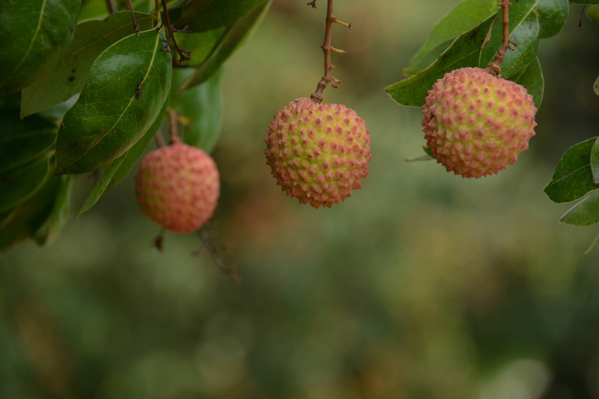
{"label": "large glossy green leaf with pale midrib, in front above leftmost lychee", "polygon": [[152,126],[170,88],[172,64],[154,29],[100,54],[56,140],[56,174],[84,173],[126,153]]}

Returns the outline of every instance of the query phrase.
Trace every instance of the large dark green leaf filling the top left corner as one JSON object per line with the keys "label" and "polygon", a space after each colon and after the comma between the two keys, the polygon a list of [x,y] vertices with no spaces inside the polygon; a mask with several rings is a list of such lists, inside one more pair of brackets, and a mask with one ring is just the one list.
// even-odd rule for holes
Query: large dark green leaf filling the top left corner
{"label": "large dark green leaf filling the top left corner", "polygon": [[52,68],[72,39],[81,0],[0,2],[0,95],[18,92]]}

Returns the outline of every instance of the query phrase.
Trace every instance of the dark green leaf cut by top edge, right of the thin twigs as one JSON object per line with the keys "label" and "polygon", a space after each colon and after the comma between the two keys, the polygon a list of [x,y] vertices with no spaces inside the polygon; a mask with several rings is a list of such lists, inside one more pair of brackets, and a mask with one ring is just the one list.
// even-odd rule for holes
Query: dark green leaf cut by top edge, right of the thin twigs
{"label": "dark green leaf cut by top edge, right of the thin twigs", "polygon": [[[177,26],[188,25],[192,32],[222,28],[255,10],[265,0],[183,0],[169,8]],[[175,16],[179,16],[175,19]]]}

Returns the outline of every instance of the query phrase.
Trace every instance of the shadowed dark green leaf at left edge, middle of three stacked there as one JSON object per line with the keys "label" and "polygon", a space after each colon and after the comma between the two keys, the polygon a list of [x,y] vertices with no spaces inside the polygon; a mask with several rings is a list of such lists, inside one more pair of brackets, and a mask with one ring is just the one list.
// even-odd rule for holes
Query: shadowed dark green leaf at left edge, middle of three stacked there
{"label": "shadowed dark green leaf at left edge, middle of three stacked there", "polygon": [[0,172],[0,212],[14,208],[31,197],[47,180],[50,156],[40,157],[26,165]]}

